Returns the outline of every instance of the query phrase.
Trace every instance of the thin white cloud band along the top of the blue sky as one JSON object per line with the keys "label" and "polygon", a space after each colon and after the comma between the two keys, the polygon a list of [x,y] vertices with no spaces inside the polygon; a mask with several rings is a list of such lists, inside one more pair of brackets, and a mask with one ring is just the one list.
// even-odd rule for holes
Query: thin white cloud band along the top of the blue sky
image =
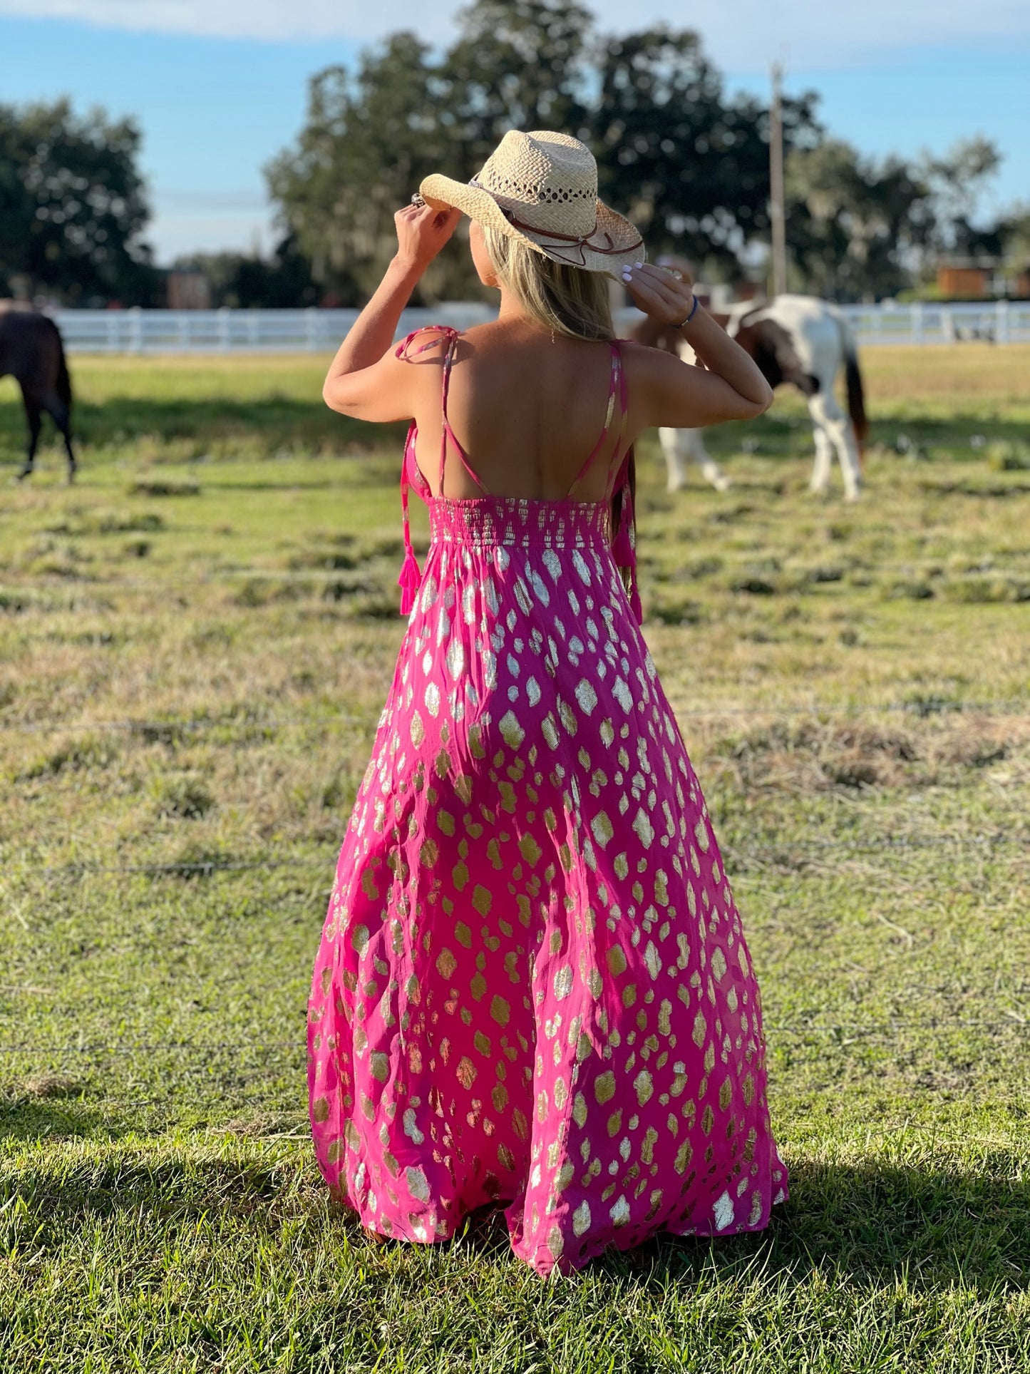
{"label": "thin white cloud band along the top of the blue sky", "polygon": [[[591,4],[591,0],[588,0]],[[0,0],[0,15],[78,19],[118,29],[265,41],[368,43],[409,27],[446,41],[459,5],[424,0]],[[1030,5],[1020,0],[593,0],[602,27],[622,30],[663,19],[689,25],[733,71],[762,70],[772,59],[794,70],[861,66],[912,49],[1030,43]]]}

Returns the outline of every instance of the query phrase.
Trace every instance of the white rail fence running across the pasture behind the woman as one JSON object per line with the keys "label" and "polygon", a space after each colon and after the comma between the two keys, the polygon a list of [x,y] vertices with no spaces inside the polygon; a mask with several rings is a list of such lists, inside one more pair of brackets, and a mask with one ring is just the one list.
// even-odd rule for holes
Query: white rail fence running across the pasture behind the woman
{"label": "white rail fence running across the pasture behind the woman", "polygon": [[[861,345],[1030,344],[1030,301],[935,305],[845,305]],[[398,337],[423,324],[470,328],[492,319],[489,305],[446,302],[401,316]],[[58,311],[74,353],[331,353],[357,311]],[[628,330],[636,311],[619,312]]]}

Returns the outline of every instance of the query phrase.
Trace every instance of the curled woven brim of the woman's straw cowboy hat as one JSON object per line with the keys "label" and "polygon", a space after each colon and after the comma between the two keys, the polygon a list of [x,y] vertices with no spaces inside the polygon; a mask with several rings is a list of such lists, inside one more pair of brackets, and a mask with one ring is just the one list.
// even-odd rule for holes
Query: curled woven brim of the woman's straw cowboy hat
{"label": "curled woven brim of the woman's straw cowboy hat", "polygon": [[608,276],[621,280],[623,267],[647,260],[636,225],[608,209],[603,201],[597,201],[597,225],[593,234],[588,239],[564,242],[545,229],[537,234],[533,229],[516,228],[489,191],[467,181],[455,181],[453,177],[434,173],[423,180],[419,195],[434,210],[461,210],[483,228],[497,229],[511,239],[522,239],[537,253],[566,267],[578,267],[586,272],[607,272]]}

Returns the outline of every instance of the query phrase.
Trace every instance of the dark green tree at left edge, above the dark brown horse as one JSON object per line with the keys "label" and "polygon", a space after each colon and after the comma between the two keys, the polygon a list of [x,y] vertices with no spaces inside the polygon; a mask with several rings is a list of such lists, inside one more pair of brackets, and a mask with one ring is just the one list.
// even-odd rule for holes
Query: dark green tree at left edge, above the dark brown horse
{"label": "dark green tree at left edge, above the dark brown horse", "polygon": [[148,304],[139,150],[133,120],[77,115],[67,100],[0,104],[0,293]]}

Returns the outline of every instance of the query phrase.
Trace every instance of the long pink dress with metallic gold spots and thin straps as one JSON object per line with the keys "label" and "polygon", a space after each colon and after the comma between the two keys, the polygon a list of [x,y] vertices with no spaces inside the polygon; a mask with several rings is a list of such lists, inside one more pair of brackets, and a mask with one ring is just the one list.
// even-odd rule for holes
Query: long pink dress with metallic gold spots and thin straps
{"label": "long pink dress with metallic gold spots and thin straps", "polygon": [[[571,492],[525,500],[489,495],[455,440],[457,337],[422,346],[441,333],[438,493],[453,449],[483,495],[434,495],[412,426],[411,618],[314,963],[319,1165],[386,1237],[444,1241],[507,1204],[538,1274],[659,1231],[762,1230],[787,1172],[758,984],[617,566],[626,522],[613,550],[610,495],[573,495],[625,429],[618,346]],[[420,581],[409,482],[430,514]]]}

